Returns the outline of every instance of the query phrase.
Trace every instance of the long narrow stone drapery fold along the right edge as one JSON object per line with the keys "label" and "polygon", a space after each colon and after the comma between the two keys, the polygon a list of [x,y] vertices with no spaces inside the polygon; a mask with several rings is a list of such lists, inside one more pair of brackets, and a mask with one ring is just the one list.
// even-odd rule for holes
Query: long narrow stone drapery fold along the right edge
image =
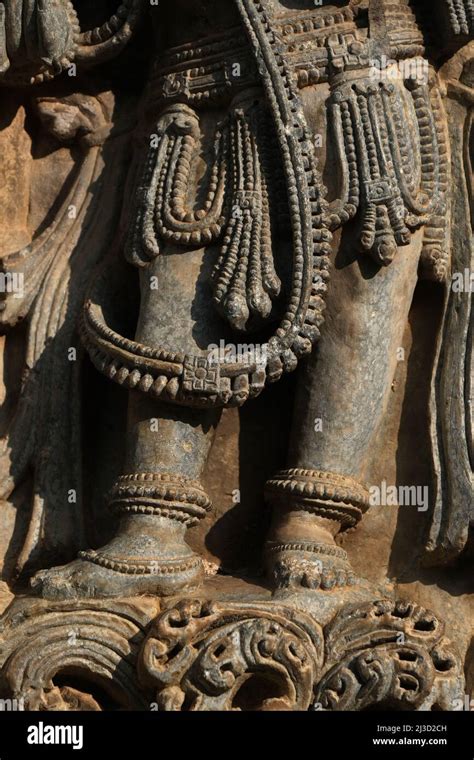
{"label": "long narrow stone drapery fold along the right edge", "polygon": [[[472,134],[474,44],[462,48],[441,70],[448,94],[448,128],[453,170],[451,278],[444,294],[430,398],[434,476],[425,559],[445,565],[463,554],[474,524],[474,359],[472,272]],[[459,279],[468,282],[459,286]]]}

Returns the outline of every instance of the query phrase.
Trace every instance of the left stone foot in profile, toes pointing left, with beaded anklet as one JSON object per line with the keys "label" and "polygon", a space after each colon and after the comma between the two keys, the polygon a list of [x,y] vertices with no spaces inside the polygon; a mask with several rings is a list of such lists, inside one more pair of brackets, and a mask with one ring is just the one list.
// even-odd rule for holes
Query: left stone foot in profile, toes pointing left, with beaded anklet
{"label": "left stone foot in profile, toes pointing left, with beaded anklet", "polygon": [[[146,518],[142,518],[146,519]],[[145,526],[140,526],[142,530]],[[107,546],[79,553],[62,567],[42,570],[31,588],[45,599],[106,599],[156,594],[172,596],[196,589],[204,577],[201,558],[184,540],[128,530]]]}

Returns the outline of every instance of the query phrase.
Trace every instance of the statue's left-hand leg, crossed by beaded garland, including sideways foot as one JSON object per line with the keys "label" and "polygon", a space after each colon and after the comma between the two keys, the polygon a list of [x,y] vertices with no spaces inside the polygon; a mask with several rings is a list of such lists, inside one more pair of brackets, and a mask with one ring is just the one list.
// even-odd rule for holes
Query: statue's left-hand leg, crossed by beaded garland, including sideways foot
{"label": "statue's left-hand leg, crossed by beaded garland, including sideways foot", "polygon": [[[162,256],[143,270],[138,342],[166,345],[171,331],[187,351],[210,342],[202,331],[214,321],[201,320],[195,328],[191,316],[205,308],[195,287],[202,259],[199,251]],[[150,289],[153,277],[159,291]],[[196,586],[202,561],[184,535],[211,506],[199,481],[218,419],[217,409],[176,407],[132,391],[127,461],[110,498],[119,515],[117,535],[97,551],[81,552],[71,565],[39,573],[33,587],[49,598],[68,598],[167,595]]]}

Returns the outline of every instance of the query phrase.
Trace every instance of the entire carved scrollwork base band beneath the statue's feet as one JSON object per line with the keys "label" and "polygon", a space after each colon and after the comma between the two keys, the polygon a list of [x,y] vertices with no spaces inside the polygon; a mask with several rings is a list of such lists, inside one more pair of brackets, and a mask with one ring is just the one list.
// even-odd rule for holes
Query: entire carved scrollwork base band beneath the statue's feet
{"label": "entire carved scrollwork base band beneath the statue's feet", "polygon": [[166,711],[453,710],[463,698],[443,624],[415,604],[346,604],[325,627],[268,601],[159,609],[151,597],[17,602],[0,626],[0,696],[46,711],[103,709],[104,693],[109,708]]}

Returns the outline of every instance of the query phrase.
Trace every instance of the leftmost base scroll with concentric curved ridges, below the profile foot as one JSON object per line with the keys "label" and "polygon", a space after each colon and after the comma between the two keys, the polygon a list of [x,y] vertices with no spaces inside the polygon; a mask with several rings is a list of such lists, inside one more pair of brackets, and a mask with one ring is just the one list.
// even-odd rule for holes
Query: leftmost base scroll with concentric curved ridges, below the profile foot
{"label": "leftmost base scroll with concentric curved ridges, below the profile foot", "polygon": [[[158,599],[13,602],[0,619],[0,695],[25,710],[100,710],[88,693],[55,683],[79,676],[98,685],[120,709],[147,709],[136,663]],[[99,700],[100,701],[100,700]]]}

